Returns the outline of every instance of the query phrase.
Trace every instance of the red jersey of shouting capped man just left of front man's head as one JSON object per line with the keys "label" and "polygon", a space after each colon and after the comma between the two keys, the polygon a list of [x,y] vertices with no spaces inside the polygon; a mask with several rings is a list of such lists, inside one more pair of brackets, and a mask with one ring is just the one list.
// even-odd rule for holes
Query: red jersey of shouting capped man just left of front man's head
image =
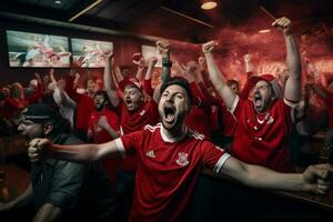
{"label": "red jersey of shouting capped man just left of front man's head", "polygon": [[[158,105],[153,100],[147,101],[141,108],[135,111],[129,111],[124,102],[118,105],[121,113],[120,125],[121,134],[129,134],[131,132],[143,130],[147,124],[157,124],[159,121]],[[124,171],[135,171],[135,157],[122,160]]]}

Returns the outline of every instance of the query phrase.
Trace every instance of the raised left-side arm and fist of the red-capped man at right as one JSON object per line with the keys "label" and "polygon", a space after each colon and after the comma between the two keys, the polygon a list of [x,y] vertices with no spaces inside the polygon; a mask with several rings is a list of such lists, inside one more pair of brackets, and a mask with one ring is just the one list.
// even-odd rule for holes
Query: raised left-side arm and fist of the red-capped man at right
{"label": "raised left-side arm and fist of the red-capped man at right", "polygon": [[223,99],[225,105],[228,108],[231,108],[236,95],[232,92],[229,85],[226,85],[226,80],[222,75],[215,60],[213,57],[213,49],[215,47],[214,41],[206,42],[202,46],[202,51],[204,53],[205,60],[206,60],[206,67],[209,71],[210,79],[215,88],[215,90],[219,92],[220,97]]}

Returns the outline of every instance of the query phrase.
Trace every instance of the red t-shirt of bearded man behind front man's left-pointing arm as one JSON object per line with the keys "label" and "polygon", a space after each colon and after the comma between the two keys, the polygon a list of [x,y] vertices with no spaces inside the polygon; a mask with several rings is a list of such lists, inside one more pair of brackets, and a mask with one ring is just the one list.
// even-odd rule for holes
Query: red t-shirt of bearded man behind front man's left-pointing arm
{"label": "red t-shirt of bearded man behind front man's left-pointing arm", "polygon": [[[107,130],[97,125],[101,117],[107,118],[108,123],[113,130],[115,131],[120,130],[120,125],[119,125],[120,120],[115,112],[109,109],[103,109],[101,112],[93,111],[89,118],[89,129],[92,131],[94,143],[104,143],[113,140]],[[117,171],[120,167],[120,161],[108,159],[108,160],[103,160],[102,163],[107,169],[110,181],[114,182],[117,178]]]}

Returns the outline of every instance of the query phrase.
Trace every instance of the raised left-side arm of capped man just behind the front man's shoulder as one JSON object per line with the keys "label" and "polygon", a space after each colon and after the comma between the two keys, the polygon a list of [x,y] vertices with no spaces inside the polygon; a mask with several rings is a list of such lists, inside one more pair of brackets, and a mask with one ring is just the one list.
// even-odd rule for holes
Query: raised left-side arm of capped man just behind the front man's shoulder
{"label": "raised left-side arm of capped man just behind the front man's shoulder", "polygon": [[113,52],[110,52],[105,58],[105,68],[104,68],[104,87],[108,95],[110,97],[110,101],[113,107],[117,107],[120,102],[120,98],[117,94],[117,87],[114,82],[113,75],[113,67],[114,67],[114,58]]}

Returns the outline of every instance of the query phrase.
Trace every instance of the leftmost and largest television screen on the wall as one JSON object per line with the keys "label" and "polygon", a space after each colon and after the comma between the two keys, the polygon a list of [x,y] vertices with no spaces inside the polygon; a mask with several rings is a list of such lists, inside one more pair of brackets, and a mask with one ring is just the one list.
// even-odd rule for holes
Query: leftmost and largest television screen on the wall
{"label": "leftmost and largest television screen on the wall", "polygon": [[67,37],[7,30],[10,67],[70,67]]}

